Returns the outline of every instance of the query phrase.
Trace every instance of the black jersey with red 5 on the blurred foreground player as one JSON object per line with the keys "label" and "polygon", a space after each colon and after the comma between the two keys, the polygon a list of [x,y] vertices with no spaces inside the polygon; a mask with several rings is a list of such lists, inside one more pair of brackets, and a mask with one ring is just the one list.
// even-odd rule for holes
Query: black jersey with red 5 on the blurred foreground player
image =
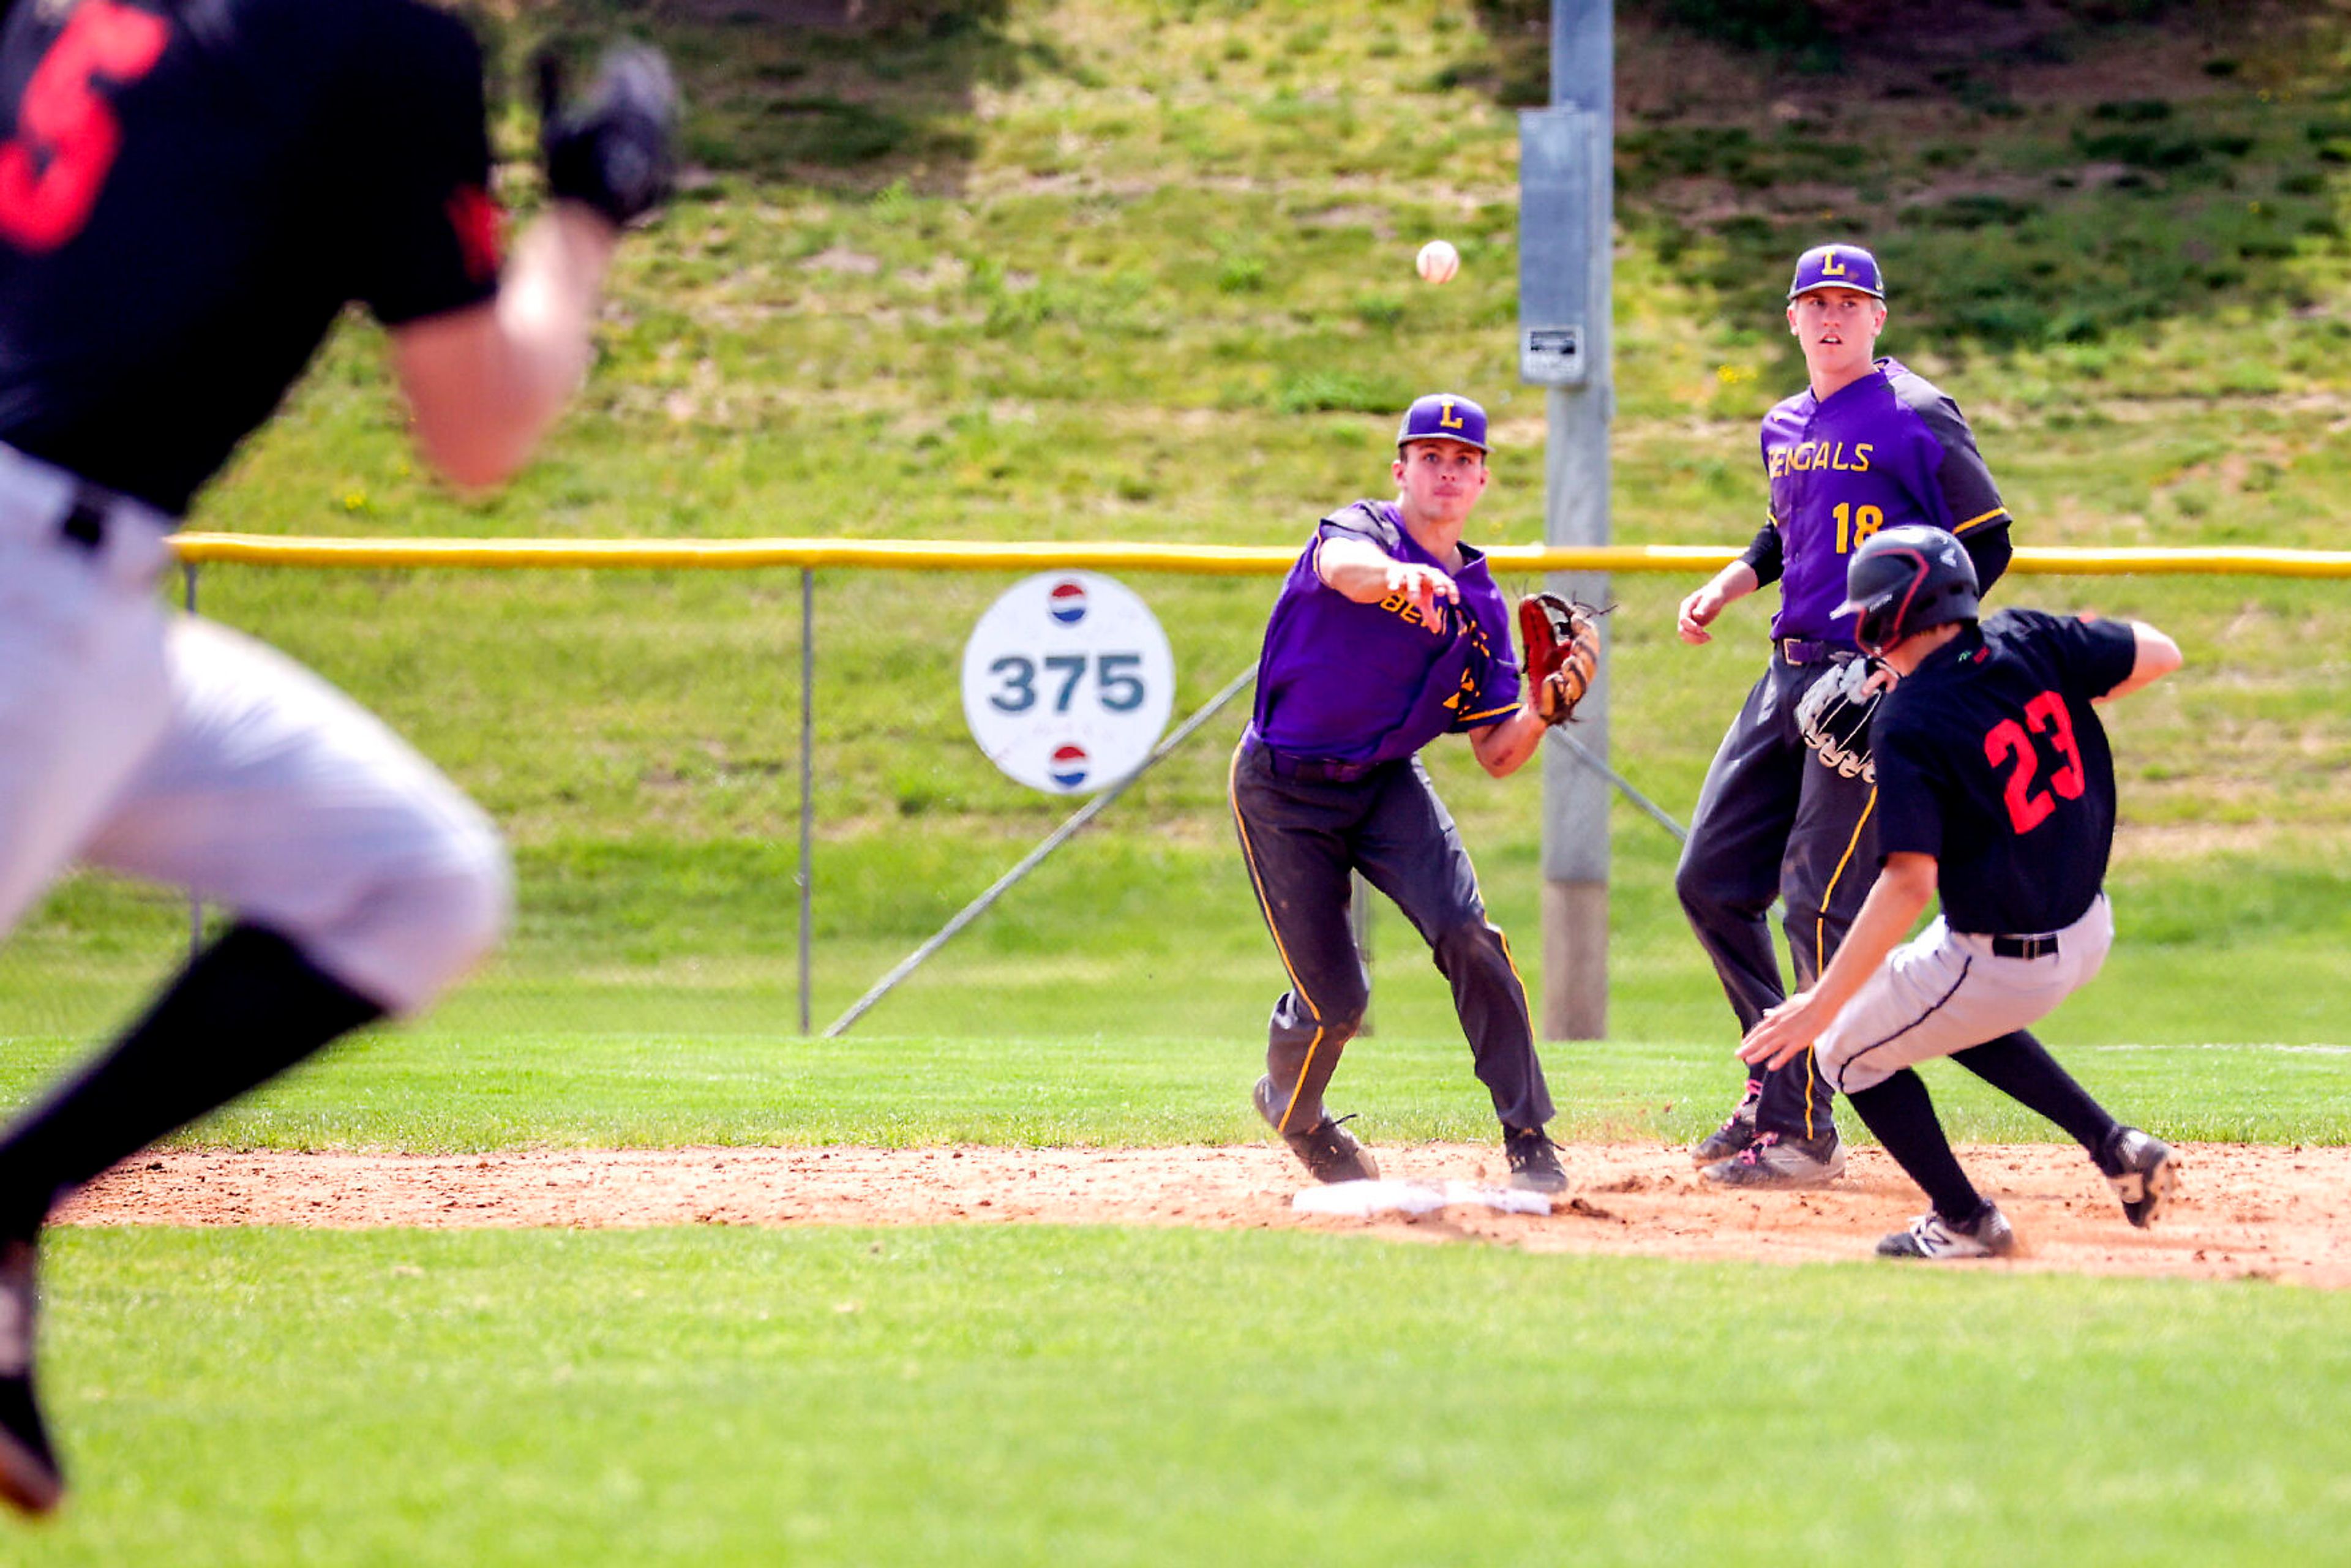
{"label": "black jersey with red 5 on the blurred foreground player", "polygon": [[421,0],[14,0],[0,442],[183,512],[343,306],[498,287],[482,52]]}

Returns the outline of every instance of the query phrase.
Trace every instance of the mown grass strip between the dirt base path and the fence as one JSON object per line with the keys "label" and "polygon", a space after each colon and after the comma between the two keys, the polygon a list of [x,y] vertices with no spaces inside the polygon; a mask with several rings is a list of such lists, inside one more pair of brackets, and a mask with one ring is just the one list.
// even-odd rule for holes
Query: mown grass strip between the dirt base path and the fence
{"label": "mown grass strip between the dirt base path and the fence", "polygon": [[[2342,1046],[2062,1046],[2118,1114],[2168,1138],[2351,1143]],[[73,1051],[14,1044],[0,1098]],[[475,1152],[679,1145],[1253,1143],[1262,1039],[905,1037],[846,1041],[694,1034],[376,1032],[221,1112],[183,1143]],[[1721,1119],[1740,1067],[1721,1046],[1552,1044],[1559,1138],[1683,1140]],[[1970,1140],[2059,1140],[1965,1072],[1930,1067]],[[1349,1046],[1333,1100],[1382,1143],[1493,1138],[1460,1032]],[[1848,1135],[1860,1138],[1857,1126]]]}

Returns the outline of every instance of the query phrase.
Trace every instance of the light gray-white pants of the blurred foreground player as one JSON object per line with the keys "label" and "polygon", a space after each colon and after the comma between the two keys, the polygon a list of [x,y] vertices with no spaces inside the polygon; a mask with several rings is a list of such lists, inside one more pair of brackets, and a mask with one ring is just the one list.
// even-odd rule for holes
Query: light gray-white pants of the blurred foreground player
{"label": "light gray-white pants of the blurred foreground player", "polygon": [[73,860],[172,882],[414,1013],[498,938],[489,818],[348,696],[167,616],[169,520],[0,447],[0,936]]}

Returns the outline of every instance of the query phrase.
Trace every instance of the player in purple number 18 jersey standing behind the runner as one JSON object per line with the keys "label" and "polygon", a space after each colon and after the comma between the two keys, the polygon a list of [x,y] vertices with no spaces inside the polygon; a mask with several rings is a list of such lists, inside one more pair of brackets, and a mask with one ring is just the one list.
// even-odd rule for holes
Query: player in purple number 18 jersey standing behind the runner
{"label": "player in purple number 18 jersey standing behind the runner", "polygon": [[[1763,416],[1770,512],[1747,552],[1681,602],[1681,639],[1702,644],[1733,599],[1780,583],[1770,663],[1723,733],[1690,820],[1674,889],[1723,980],[1740,1032],[1787,994],[1766,914],[1796,985],[1820,978],[1869,891],[1876,776],[1869,710],[1876,682],[1853,644],[1846,562],[1878,529],[1956,534],[1989,588],[2008,567],[2008,508],[1958,404],[1895,360],[1876,357],[1886,284],[1857,244],[1796,259],[1787,324],[1806,390]],[[1846,1168],[1829,1091],[1810,1056],[1756,1070],[1721,1128],[1690,1145],[1707,1180],[1813,1187]]]}

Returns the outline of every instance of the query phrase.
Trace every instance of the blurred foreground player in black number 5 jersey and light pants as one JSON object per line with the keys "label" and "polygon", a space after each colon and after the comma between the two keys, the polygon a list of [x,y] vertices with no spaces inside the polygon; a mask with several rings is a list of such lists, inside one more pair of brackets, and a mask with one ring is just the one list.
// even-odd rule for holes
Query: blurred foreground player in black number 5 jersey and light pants
{"label": "blurred foreground player in black number 5 jersey and light pants", "polygon": [[[552,96],[552,94],[550,94]],[[543,127],[501,256],[482,56],[421,0],[61,0],[0,24],[0,929],[71,863],[235,910],[106,1053],[0,1133],[0,1495],[56,1505],[33,1392],[59,1197],[386,1013],[501,933],[489,820],[383,724],[169,618],[165,538],[357,301],[426,458],[505,480],[588,367],[672,92],[607,59]]]}

